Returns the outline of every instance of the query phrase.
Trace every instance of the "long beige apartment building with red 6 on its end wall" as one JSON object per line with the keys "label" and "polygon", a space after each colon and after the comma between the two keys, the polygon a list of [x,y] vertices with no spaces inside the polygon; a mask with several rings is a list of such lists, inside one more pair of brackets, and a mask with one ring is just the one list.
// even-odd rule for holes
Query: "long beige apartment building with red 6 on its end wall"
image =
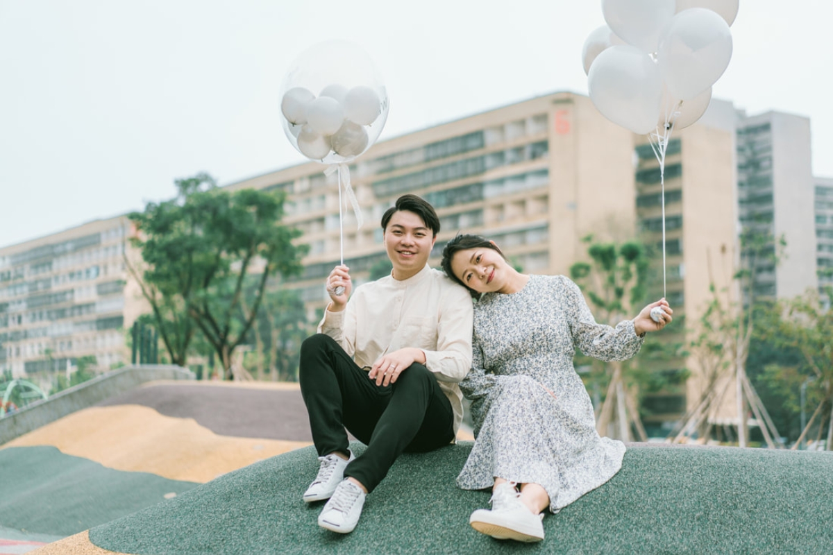
{"label": "long beige apartment building with red 6 on its end wall", "polygon": [[[566,274],[581,238],[632,236],[633,136],[602,117],[590,99],[558,92],[378,143],[351,167],[366,221],[345,211],[345,263],[367,280],[387,260],[379,221],[404,193],[436,206],[441,233],[432,253],[458,232],[488,235],[524,270]],[[286,223],[310,245],[292,283],[311,312],[327,305],[324,278],[339,262],[336,176],[307,163],[229,186],[286,191]]]}

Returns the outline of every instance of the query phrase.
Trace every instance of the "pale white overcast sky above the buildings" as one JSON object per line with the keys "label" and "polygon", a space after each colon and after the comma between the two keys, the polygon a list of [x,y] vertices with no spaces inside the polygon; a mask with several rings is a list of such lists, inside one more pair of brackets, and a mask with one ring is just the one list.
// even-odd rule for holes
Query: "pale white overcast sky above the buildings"
{"label": "pale white overcast sky above the buildings", "polygon": [[[714,96],[811,118],[833,176],[833,2],[741,0]],[[0,0],[0,246],[141,210],[173,180],[304,161],[279,122],[297,55],[365,47],[391,99],[380,141],[554,91],[586,94],[601,0]]]}

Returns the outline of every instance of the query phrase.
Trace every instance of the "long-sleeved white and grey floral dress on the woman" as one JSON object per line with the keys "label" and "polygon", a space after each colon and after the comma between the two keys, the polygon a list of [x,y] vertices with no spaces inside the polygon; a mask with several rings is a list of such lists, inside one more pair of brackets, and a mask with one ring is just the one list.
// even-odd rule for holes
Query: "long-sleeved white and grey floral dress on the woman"
{"label": "long-sleeved white and grey floral dress on the woman", "polygon": [[495,477],[538,483],[556,513],[612,478],[625,444],[596,433],[573,355],[577,347],[596,359],[625,360],[642,342],[631,320],[597,324],[563,275],[531,275],[517,293],[483,295],[474,310],[472,368],[460,384],[472,402],[476,441],[457,485],[491,488]]}

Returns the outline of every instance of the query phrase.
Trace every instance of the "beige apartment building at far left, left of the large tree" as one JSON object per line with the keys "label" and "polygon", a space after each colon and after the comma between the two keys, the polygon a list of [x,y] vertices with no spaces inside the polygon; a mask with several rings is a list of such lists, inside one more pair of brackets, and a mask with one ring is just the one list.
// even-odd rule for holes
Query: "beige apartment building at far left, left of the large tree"
{"label": "beige apartment building at far left, left of the large tree", "polygon": [[142,306],[122,260],[129,229],[116,217],[0,249],[0,369],[48,391],[81,356],[130,362],[123,329]]}

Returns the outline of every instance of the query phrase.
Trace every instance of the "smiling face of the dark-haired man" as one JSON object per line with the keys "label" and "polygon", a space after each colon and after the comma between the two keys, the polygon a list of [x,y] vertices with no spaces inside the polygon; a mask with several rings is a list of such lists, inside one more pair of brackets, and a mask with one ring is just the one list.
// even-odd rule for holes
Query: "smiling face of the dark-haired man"
{"label": "smiling face of the dark-haired man", "polygon": [[393,264],[393,277],[407,280],[425,267],[436,237],[422,218],[396,211],[385,228],[385,250]]}

